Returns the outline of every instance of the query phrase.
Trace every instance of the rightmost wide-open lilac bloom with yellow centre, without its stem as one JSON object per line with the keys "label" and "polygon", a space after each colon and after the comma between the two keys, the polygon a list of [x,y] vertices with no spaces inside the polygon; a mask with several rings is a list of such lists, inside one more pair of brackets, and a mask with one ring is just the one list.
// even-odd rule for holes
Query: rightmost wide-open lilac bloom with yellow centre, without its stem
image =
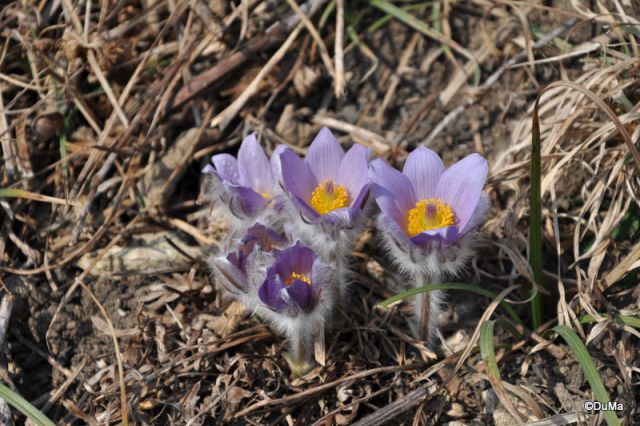
{"label": "rightmost wide-open lilac bloom with yellow centre, without its stem", "polygon": [[372,192],[381,221],[396,237],[419,247],[432,241],[454,244],[482,220],[487,171],[487,161],[479,154],[445,170],[438,154],[424,147],[409,154],[402,173],[375,160]]}

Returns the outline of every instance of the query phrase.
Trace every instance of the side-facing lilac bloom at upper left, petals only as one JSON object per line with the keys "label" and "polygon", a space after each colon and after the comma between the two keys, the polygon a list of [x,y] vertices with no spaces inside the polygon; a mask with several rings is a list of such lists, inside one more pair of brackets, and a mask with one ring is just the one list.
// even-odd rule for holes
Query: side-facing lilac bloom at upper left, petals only
{"label": "side-facing lilac bloom at upper left, petals only", "polygon": [[276,196],[278,184],[273,176],[273,158],[270,162],[255,133],[244,138],[237,159],[229,154],[218,154],[211,162],[213,165],[208,164],[203,172],[222,183],[221,198],[235,216],[255,217]]}

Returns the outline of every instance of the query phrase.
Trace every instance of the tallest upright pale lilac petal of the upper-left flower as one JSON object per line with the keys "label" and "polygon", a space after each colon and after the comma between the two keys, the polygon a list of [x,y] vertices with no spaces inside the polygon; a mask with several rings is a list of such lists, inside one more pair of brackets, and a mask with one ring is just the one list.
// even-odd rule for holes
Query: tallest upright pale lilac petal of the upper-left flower
{"label": "tallest upright pale lilac petal of the upper-left flower", "polygon": [[274,190],[271,163],[252,133],[242,141],[238,150],[239,183],[257,192],[271,194]]}

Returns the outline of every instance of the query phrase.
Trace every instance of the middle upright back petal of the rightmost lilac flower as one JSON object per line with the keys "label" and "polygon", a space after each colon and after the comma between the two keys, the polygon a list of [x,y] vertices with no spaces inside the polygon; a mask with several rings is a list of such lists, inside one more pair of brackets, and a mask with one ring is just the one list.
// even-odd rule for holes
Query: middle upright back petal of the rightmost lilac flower
{"label": "middle upright back petal of the rightmost lilac flower", "polygon": [[413,150],[404,163],[402,173],[409,178],[418,199],[433,198],[444,164],[435,152],[420,146]]}

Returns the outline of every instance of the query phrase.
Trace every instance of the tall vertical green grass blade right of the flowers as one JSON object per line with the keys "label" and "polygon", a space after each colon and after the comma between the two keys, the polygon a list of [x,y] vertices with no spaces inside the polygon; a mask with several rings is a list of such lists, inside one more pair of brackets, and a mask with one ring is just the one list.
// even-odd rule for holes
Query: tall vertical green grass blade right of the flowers
{"label": "tall vertical green grass blade right of the flowers", "polygon": [[[539,100],[540,98],[538,98]],[[531,129],[531,192],[529,220],[529,263],[533,279],[542,286],[542,197],[540,189],[540,122],[538,120],[538,100],[533,108]],[[532,289],[533,291],[533,289]],[[537,292],[531,299],[531,322],[533,331],[542,324],[542,295]]]}

